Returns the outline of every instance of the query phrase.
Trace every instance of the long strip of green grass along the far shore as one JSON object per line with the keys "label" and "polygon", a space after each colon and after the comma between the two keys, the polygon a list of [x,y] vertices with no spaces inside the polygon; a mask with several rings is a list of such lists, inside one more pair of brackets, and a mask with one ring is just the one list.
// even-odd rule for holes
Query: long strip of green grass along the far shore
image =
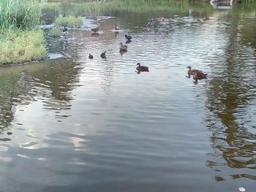
{"label": "long strip of green grass along the far shore", "polygon": [[[79,1],[78,1],[79,2]],[[60,13],[66,15],[111,15],[116,12],[187,12],[192,5],[187,0],[107,0],[107,1],[80,1],[73,3],[71,1],[53,2],[44,5],[44,8],[51,7]],[[201,3],[201,2],[200,2]],[[203,4],[204,2],[202,2]],[[211,4],[207,3],[206,9],[210,9]],[[205,11],[199,9],[199,11]]]}

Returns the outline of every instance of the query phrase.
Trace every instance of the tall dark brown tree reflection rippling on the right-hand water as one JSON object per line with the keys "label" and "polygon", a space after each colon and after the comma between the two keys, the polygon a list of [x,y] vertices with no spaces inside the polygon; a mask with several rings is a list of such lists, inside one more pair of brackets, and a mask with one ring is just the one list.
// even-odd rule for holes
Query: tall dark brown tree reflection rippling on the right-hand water
{"label": "tall dark brown tree reflection rippling on the right-hand water", "polygon": [[[239,23],[238,23],[239,22]],[[222,160],[208,161],[208,166],[256,169],[255,127],[255,56],[241,42],[241,21],[235,18],[230,26],[225,64],[211,72],[213,79],[207,91],[208,128],[215,153]],[[254,61],[252,61],[254,58]],[[256,180],[256,174],[233,174],[233,178],[247,177]],[[219,179],[218,179],[219,180]]]}

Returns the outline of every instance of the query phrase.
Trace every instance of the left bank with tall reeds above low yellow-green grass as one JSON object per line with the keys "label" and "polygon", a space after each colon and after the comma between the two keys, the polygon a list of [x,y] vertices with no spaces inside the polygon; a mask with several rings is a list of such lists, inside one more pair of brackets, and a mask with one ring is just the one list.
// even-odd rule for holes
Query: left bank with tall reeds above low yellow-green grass
{"label": "left bank with tall reeds above low yellow-green grass", "polygon": [[34,0],[0,1],[0,65],[45,58],[45,39],[36,30],[41,9]]}

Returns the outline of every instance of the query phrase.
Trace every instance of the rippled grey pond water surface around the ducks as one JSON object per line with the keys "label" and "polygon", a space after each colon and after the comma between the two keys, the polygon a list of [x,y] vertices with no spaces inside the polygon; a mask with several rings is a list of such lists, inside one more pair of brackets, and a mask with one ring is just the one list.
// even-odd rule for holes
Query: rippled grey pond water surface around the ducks
{"label": "rippled grey pond water surface around the ducks", "polygon": [[0,191],[255,191],[256,16],[106,16],[48,39],[65,58],[0,68]]}

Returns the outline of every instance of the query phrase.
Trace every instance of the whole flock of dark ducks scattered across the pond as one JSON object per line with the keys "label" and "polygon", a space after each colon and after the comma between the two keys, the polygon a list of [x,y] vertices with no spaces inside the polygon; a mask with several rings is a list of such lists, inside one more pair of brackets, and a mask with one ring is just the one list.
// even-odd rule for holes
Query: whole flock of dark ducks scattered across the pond
{"label": "whole flock of dark ducks scattered across the pond", "polygon": [[[162,22],[162,21],[165,20],[165,18],[158,17],[156,20],[159,21],[159,22]],[[97,22],[100,23],[99,20]],[[146,26],[147,27],[153,26],[153,22],[154,22],[154,20],[151,19],[150,22],[147,23]],[[116,30],[116,31],[119,30],[119,28],[116,24],[113,25],[113,26],[114,26],[114,30]],[[91,28],[91,31],[93,31],[94,33],[97,33],[99,31],[99,27]],[[68,34],[67,26],[64,26],[63,33],[64,33],[64,35]],[[125,39],[127,39],[127,42],[131,42],[132,37],[130,35],[126,34],[124,37],[125,37]],[[122,42],[120,42],[119,45],[120,45],[120,47],[119,47],[120,53],[127,52],[127,48],[128,48],[127,45],[124,45]],[[100,57],[105,59],[106,58],[106,53],[107,53],[106,51],[101,53]],[[91,55],[91,53],[89,53],[89,59],[93,59],[93,58],[94,58],[94,56]],[[136,66],[137,66],[136,69],[137,69],[138,74],[140,74],[140,72],[149,72],[148,66],[142,66],[140,63],[136,64]],[[203,80],[203,79],[207,78],[207,74],[204,73],[201,70],[191,69],[191,66],[187,66],[187,69],[188,69],[188,71],[187,71],[188,76],[187,77],[190,78],[192,76],[193,79],[195,80],[195,83],[197,83],[197,80]]]}

